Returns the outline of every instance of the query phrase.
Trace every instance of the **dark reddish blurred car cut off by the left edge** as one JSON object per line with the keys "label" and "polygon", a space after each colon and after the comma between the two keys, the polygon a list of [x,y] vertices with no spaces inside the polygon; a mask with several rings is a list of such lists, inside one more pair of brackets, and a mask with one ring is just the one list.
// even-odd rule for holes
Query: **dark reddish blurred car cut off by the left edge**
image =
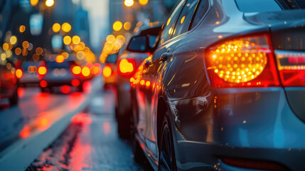
{"label": "dark reddish blurred car cut off by the left edge", "polygon": [[[6,61],[6,60],[5,60]],[[17,79],[22,76],[22,71],[15,68],[13,64],[0,62],[0,99],[9,99],[9,105],[18,104]]]}

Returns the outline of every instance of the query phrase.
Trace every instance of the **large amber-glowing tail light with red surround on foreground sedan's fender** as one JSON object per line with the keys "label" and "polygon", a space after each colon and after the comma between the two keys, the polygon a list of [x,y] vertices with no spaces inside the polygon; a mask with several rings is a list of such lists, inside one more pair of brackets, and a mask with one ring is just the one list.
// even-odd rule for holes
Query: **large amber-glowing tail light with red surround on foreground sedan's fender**
{"label": "large amber-glowing tail light with red surround on foreground sedan's fender", "polygon": [[279,86],[269,37],[235,38],[208,48],[208,76],[214,88]]}

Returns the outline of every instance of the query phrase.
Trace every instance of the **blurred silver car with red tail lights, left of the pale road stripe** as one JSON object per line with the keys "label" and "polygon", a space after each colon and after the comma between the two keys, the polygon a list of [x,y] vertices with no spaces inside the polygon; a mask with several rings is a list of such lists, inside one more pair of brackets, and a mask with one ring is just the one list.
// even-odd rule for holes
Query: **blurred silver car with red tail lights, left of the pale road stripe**
{"label": "blurred silver car with red tail lights, left of the pale road stripe", "polygon": [[73,56],[67,59],[61,55],[52,56],[55,60],[46,61],[46,66],[38,68],[38,73],[42,76],[39,83],[41,91],[52,92],[52,88],[55,86],[73,86],[81,92],[84,81],[92,77],[90,68],[78,66]]}

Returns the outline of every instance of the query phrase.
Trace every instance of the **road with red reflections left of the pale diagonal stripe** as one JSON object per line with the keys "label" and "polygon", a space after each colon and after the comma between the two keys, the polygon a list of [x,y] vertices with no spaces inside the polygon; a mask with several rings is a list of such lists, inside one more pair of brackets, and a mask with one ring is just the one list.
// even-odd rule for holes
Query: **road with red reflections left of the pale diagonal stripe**
{"label": "road with red reflections left of the pale diagonal stripe", "polygon": [[68,94],[59,89],[50,94],[34,87],[18,88],[18,105],[9,107],[8,100],[0,100],[0,151],[19,138],[28,138],[35,129],[47,129],[63,113],[75,110],[85,95],[73,89]]}

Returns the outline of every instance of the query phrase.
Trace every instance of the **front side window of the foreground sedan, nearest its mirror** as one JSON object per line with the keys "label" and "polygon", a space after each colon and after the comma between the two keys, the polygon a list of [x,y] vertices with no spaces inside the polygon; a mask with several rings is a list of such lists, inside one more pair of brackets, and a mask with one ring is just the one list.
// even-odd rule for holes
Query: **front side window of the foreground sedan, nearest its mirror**
{"label": "front side window of the foreground sedan, nearest its mirror", "polygon": [[164,30],[161,33],[161,40],[159,44],[162,44],[169,38],[171,38],[171,34],[173,34],[173,28],[175,27],[176,20],[181,12],[184,3],[185,0],[180,1],[179,4],[176,6],[176,9],[173,10],[173,13],[166,21],[166,24],[164,25]]}

